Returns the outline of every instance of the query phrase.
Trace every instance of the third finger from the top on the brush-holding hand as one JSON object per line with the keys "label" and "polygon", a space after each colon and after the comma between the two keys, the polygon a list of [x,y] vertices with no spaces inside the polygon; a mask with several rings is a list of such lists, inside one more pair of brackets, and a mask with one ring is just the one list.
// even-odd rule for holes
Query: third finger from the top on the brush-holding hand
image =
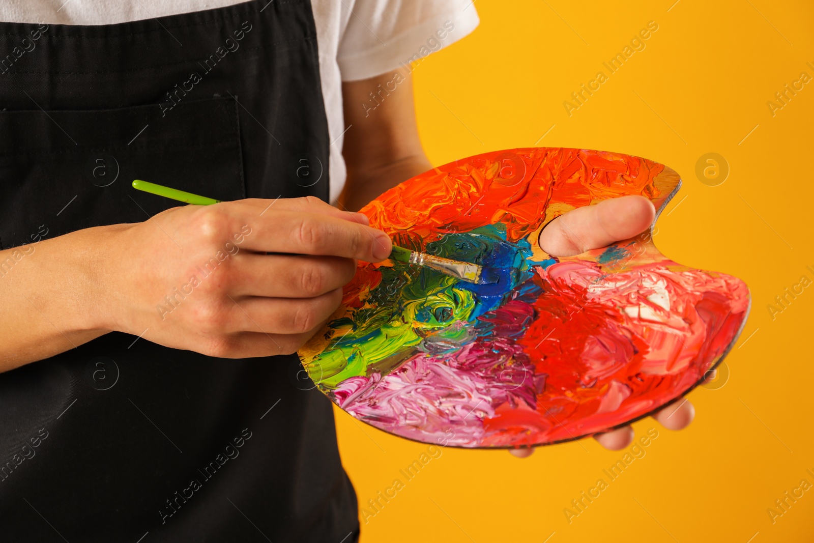
{"label": "third finger from the top on the brush-holding hand", "polygon": [[[233,300],[230,319],[221,332],[260,331],[265,334],[304,334],[325,322],[342,302],[338,288],[314,298],[261,298]],[[216,328],[217,329],[217,328]]]}

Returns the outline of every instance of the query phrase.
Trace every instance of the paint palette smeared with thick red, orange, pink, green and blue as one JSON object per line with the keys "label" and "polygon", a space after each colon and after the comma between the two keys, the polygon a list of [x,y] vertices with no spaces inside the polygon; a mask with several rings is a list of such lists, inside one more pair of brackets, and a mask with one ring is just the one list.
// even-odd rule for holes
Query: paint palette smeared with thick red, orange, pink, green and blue
{"label": "paint palette smeared with thick red, orange, pink, green and blue", "polygon": [[676,264],[650,231],[556,258],[537,240],[571,209],[681,179],[652,160],[532,147],[445,164],[362,212],[401,247],[505,273],[475,285],[359,262],[341,307],[300,358],[365,423],[466,448],[553,444],[631,423],[701,383],[733,345],[749,290]]}

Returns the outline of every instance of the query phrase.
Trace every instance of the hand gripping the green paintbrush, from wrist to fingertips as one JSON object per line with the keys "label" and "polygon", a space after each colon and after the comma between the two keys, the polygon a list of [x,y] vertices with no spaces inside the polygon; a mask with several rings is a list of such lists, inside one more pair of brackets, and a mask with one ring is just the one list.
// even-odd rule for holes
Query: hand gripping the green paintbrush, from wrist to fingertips
{"label": "hand gripping the green paintbrush, from wrist to fingertips", "polygon": [[355,259],[382,261],[392,242],[307,197],[168,209],[125,226],[115,247],[100,326],[243,358],[295,353],[339,307]]}

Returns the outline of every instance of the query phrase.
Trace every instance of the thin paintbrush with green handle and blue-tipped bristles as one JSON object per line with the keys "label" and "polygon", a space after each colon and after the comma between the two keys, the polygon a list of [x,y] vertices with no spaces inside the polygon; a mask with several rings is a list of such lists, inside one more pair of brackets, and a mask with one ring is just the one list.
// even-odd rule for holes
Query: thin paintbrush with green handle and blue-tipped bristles
{"label": "thin paintbrush with green handle and blue-tipped bristles", "polygon": [[[133,181],[133,188],[149,192],[154,195],[164,196],[164,198],[175,199],[180,202],[195,205],[211,205],[218,204],[221,200],[207,198],[206,196],[194,195],[191,192],[184,190],[177,190],[168,186],[157,185],[155,183],[142,181],[136,179]],[[493,284],[500,278],[500,270],[495,268],[484,268],[477,264],[470,262],[453,261],[449,258],[442,256],[428,255],[425,252],[415,252],[393,245],[393,250],[390,253],[390,260],[406,262],[407,264],[414,264],[424,266],[425,268],[435,269],[449,277],[461,279],[462,281],[472,282],[479,285]]]}

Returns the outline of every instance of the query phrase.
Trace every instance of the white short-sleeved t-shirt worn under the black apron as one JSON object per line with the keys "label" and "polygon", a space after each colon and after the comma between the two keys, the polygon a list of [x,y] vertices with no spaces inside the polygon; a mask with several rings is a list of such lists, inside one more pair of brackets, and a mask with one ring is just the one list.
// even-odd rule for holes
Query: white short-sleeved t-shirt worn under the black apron
{"label": "white short-sleeved t-shirt worn under the black apron", "polygon": [[[0,20],[115,24],[203,11],[245,0],[0,0]],[[345,182],[342,81],[375,77],[456,42],[479,23],[470,0],[311,0],[328,117],[330,196]]]}

